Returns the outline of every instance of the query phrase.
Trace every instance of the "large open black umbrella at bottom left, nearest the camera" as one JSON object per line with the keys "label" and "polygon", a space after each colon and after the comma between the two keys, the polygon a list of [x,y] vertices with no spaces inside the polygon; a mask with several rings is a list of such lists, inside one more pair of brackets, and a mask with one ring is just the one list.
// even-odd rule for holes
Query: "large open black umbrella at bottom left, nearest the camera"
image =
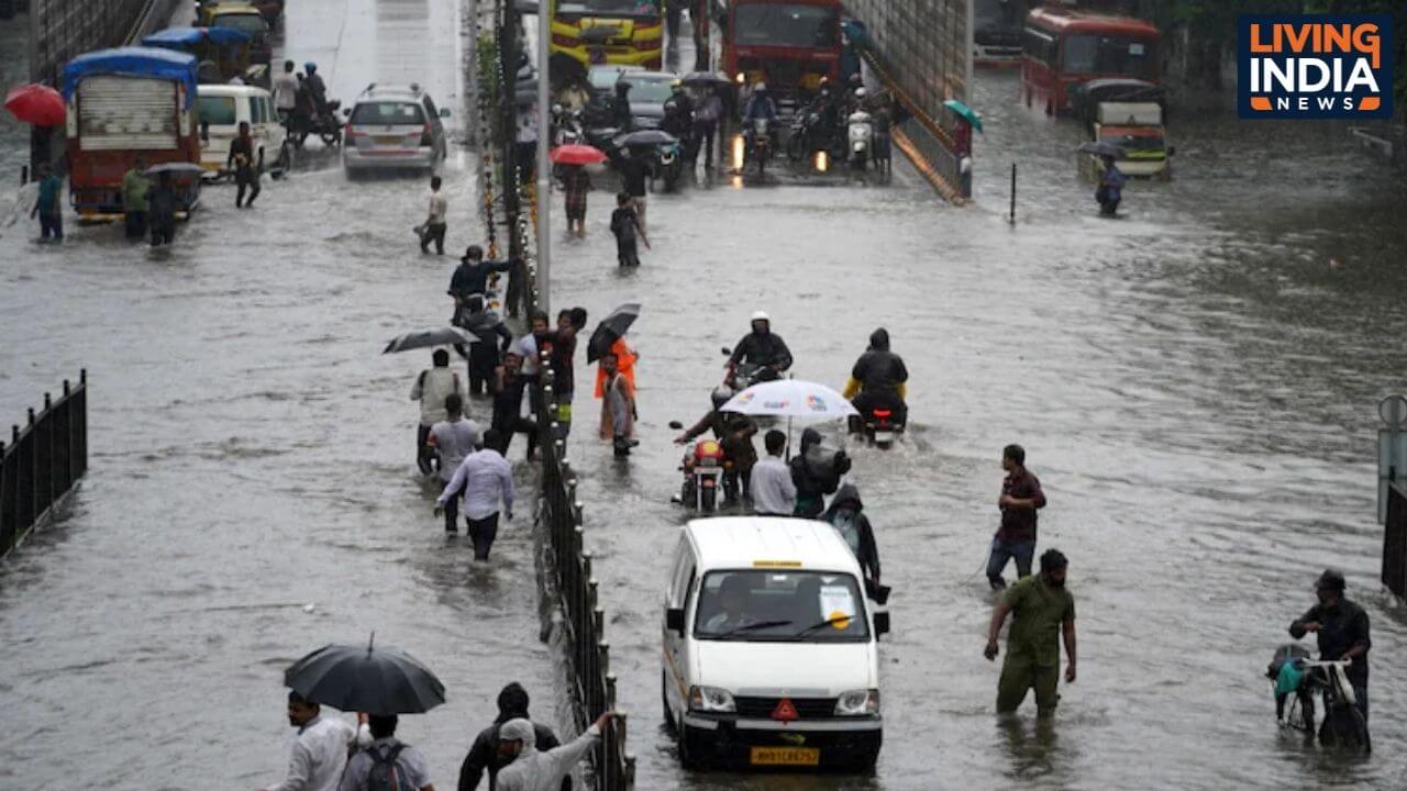
{"label": "large open black umbrella at bottom left, nearest the camera", "polygon": [[445,684],[397,649],[324,646],[293,663],[283,684],[315,704],[376,715],[424,714],[445,702]]}

